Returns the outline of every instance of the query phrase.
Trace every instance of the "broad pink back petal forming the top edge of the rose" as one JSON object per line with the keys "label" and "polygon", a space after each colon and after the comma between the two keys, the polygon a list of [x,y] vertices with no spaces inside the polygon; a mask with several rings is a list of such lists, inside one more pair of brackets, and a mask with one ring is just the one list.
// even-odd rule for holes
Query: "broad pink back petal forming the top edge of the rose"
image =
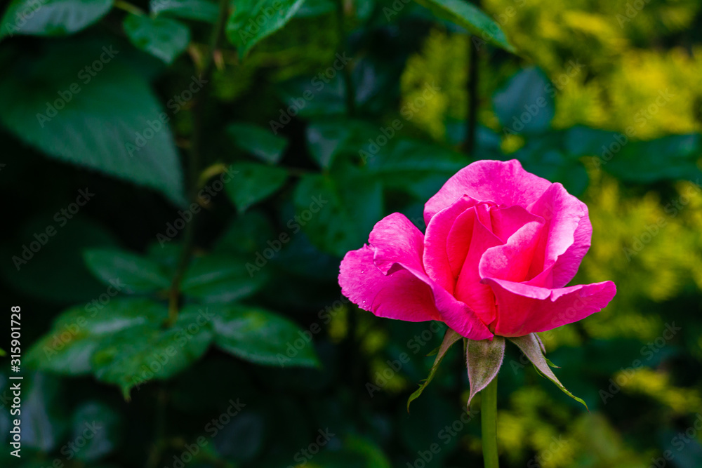
{"label": "broad pink back petal forming the top edge of the rose", "polygon": [[424,206],[424,221],[451,205],[463,195],[473,199],[494,201],[498,205],[531,205],[551,182],[524,171],[516,159],[512,161],[476,161],[454,174],[444,187]]}

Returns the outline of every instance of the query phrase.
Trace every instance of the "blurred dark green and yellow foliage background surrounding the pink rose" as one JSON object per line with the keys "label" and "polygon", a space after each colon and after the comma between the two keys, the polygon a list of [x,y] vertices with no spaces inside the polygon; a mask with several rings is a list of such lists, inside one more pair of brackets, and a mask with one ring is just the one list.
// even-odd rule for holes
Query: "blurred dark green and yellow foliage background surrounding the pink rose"
{"label": "blurred dark green and yellow foliage background surrounding the pink rose", "polygon": [[588,203],[574,283],[618,294],[541,334],[592,413],[508,346],[501,462],[702,466],[702,2],[419,3],[4,7],[3,467],[479,466],[456,349],[406,412],[444,326],[336,277],[384,215],[423,229],[458,169],[512,158]]}

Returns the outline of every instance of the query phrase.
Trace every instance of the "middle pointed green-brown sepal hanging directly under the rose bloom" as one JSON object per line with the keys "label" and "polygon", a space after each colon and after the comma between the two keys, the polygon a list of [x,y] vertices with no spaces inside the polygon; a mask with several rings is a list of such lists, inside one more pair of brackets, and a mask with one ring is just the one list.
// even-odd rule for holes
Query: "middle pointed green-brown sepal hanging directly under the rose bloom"
{"label": "middle pointed green-brown sepal hanging directly under the rose bloom", "polygon": [[505,338],[495,336],[492,340],[468,340],[465,362],[468,364],[468,382],[470,401],[478,392],[487,387],[497,377],[505,357]]}

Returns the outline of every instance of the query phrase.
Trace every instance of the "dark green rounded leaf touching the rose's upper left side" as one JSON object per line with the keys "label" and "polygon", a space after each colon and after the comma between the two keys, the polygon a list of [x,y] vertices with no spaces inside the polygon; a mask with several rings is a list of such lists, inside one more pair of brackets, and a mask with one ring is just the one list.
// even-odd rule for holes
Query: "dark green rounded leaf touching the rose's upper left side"
{"label": "dark green rounded leaf touching the rose's upper left side", "polygon": [[362,246],[383,217],[382,185],[366,171],[339,166],[304,175],[294,194],[296,223],[320,250],[343,257]]}

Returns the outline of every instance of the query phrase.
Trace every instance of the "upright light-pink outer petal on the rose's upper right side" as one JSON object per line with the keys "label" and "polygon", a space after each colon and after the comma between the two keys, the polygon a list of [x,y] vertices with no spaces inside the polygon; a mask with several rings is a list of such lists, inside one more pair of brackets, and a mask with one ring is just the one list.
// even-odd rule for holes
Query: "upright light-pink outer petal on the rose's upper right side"
{"label": "upright light-pink outer petal on the rose's upper right side", "polygon": [[[529,279],[536,279],[540,274],[552,275],[551,284],[545,279],[536,279],[534,283],[561,288],[573,279],[583,256],[590,248],[592,225],[588,218],[588,207],[569,194],[562,185],[553,184],[529,206],[529,210],[546,220]],[[549,271],[551,268],[552,271]]]}

